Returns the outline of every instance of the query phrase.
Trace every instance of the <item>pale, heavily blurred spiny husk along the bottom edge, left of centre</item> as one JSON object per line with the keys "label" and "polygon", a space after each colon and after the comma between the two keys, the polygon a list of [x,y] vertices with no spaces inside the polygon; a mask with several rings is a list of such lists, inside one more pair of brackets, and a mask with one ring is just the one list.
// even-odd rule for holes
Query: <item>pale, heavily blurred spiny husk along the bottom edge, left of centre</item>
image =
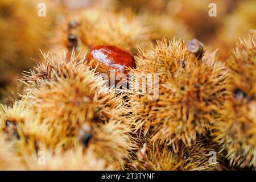
{"label": "pale, heavily blurred spiny husk along the bottom edge, left of centre", "polygon": [[[27,170],[48,170],[48,171],[66,171],[66,170],[82,170],[82,171],[105,171],[114,170],[112,164],[107,163],[103,159],[99,159],[95,156],[93,150],[84,152],[82,146],[73,148],[71,150],[49,150],[46,147],[42,147],[39,150],[40,153],[34,152],[30,155],[24,156],[25,167]],[[39,163],[39,156],[45,157],[45,161],[42,158]]]}

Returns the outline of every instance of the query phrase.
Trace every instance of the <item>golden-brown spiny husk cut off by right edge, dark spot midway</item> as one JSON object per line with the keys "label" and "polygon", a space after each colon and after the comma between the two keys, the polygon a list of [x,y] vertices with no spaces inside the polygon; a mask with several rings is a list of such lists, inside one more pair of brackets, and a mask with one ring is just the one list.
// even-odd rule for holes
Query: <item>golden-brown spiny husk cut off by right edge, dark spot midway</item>
{"label": "golden-brown spiny husk cut off by right edge, dark spot midway", "polygon": [[216,142],[226,151],[230,166],[256,167],[256,44],[254,36],[240,40],[227,61],[233,96],[214,122]]}

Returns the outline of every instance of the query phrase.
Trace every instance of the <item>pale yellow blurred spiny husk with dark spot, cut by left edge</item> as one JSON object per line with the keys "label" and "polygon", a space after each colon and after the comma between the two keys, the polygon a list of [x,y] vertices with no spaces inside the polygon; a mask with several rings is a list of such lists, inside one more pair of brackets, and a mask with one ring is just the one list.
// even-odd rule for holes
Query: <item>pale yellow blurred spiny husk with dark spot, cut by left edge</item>
{"label": "pale yellow blurred spiny husk with dark spot, cut by left edge", "polygon": [[[26,107],[26,101],[15,101],[12,107],[2,105],[1,131],[16,143],[16,154],[31,153],[39,143],[47,146],[54,140],[49,135],[51,128],[40,122],[39,114]],[[55,143],[57,142],[55,138]]]}

